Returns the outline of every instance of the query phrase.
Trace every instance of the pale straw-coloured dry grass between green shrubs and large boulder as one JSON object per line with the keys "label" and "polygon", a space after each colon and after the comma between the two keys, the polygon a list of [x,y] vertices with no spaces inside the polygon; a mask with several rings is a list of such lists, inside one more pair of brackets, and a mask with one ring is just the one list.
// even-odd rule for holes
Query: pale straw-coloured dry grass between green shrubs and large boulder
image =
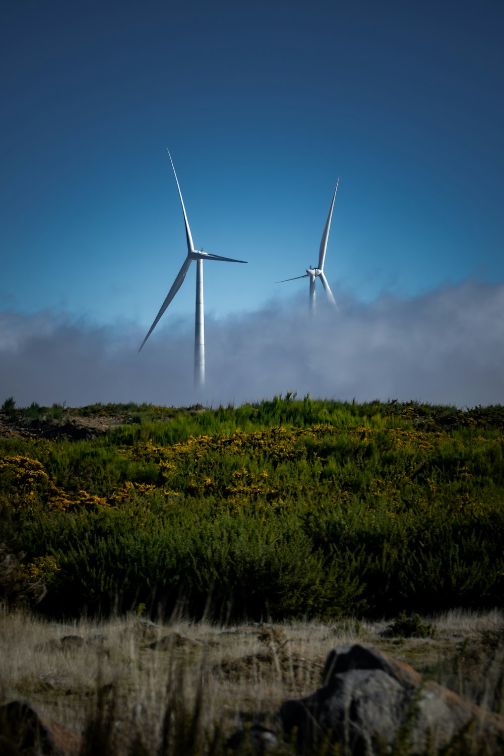
{"label": "pale straw-coloured dry grass between green shrubs and large boulder", "polygon": [[[23,612],[0,612],[0,696],[28,699],[77,732],[113,691],[119,741],[139,730],[150,748],[162,738],[167,690],[194,711],[202,697],[203,726],[218,720],[230,734],[246,723],[276,727],[286,699],[320,686],[323,662],[334,646],[378,646],[468,696],[502,711],[504,618],[501,612],[447,612],[427,618],[428,638],[383,637],[385,622],[340,621],[218,627],[173,621],[152,624],[131,616],[68,624]],[[63,638],[79,637],[79,640]],[[165,650],[151,644],[165,640]],[[198,693],[199,692],[199,693]]]}

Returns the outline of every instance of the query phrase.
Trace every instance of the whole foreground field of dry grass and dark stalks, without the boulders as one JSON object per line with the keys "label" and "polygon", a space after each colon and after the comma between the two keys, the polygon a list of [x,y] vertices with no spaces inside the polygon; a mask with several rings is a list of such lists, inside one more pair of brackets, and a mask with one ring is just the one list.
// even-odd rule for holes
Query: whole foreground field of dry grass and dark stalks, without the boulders
{"label": "whole foreground field of dry grass and dark stalks, without the boulders", "polygon": [[[486,711],[504,713],[502,612],[418,620],[416,627],[366,620],[224,627],[153,624],[135,615],[57,622],[0,609],[0,705],[28,700],[82,735],[83,747],[65,756],[299,756],[281,731],[280,706],[320,686],[329,649],[361,643],[409,662],[424,680],[438,680]],[[277,747],[253,748],[253,727],[277,733]],[[3,734],[0,722],[2,756],[32,753],[29,741],[8,750]],[[355,756],[329,742],[308,753]],[[404,739],[373,753],[418,756]],[[477,743],[457,737],[439,756],[500,753],[484,736]]]}

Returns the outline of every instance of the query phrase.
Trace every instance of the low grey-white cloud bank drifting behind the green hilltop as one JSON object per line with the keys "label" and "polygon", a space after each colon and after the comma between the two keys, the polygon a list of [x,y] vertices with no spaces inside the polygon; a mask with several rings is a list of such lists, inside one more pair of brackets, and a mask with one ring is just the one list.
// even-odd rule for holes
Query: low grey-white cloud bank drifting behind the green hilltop
{"label": "low grey-white cloud bank drifting behind the green hilltop", "polygon": [[[140,354],[135,324],[0,312],[0,403],[69,406],[255,401],[297,390],[357,401],[504,402],[504,283],[466,281],[415,299],[351,299],[316,318],[305,299],[206,321],[206,390],[193,391],[193,321],[165,314]],[[164,321],[164,322],[163,322]]]}

